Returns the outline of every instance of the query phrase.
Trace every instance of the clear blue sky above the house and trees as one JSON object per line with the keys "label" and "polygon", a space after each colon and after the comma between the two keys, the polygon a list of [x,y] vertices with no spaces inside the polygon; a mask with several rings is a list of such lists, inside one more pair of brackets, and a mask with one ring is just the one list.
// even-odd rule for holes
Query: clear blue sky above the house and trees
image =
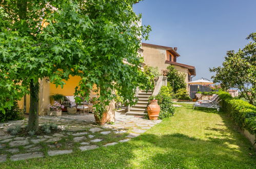
{"label": "clear blue sky above the house and trees", "polygon": [[150,25],[145,43],[178,47],[177,62],[196,67],[196,77],[213,75],[228,50],[248,44],[256,32],[256,0],[144,0],[134,5],[142,24]]}

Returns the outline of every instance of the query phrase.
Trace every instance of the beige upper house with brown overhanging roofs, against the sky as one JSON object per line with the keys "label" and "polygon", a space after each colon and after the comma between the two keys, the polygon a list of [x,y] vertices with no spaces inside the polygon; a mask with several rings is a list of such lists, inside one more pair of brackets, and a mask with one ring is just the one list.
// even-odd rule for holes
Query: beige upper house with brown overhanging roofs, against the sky
{"label": "beige upper house with brown overhanging roofs, against the sky", "polygon": [[[159,73],[162,73],[162,70],[172,65],[179,72],[186,74],[186,82],[191,81],[191,78],[196,75],[195,67],[177,62],[178,57],[180,57],[177,48],[142,43],[142,49],[144,63],[152,67],[157,67]],[[189,91],[188,86],[187,90]]]}

